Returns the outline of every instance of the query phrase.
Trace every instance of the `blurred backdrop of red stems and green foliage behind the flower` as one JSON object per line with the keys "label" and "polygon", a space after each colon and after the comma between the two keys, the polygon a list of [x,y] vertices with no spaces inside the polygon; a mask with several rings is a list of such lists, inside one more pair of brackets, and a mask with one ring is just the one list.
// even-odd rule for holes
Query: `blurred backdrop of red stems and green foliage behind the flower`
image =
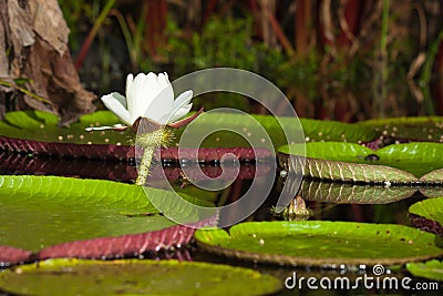
{"label": "blurred backdrop of red stems and green foliage behind the flower", "polygon": [[[60,0],[74,57],[109,1]],[[86,59],[80,69],[81,76],[86,86],[104,93],[124,91],[128,72],[167,71],[174,80],[199,69],[231,67],[274,82],[303,116],[356,121],[411,115],[420,105],[425,106],[421,114],[435,113],[427,88],[441,42],[435,37],[441,31],[435,11],[443,6],[392,0],[388,11],[383,0],[328,4],[285,0],[269,1],[274,3],[269,10],[265,2],[117,0],[90,50],[92,61]],[[349,18],[349,11],[357,18]],[[301,27],[300,16],[306,18]],[[388,30],[382,16],[389,18]],[[399,78],[409,81],[399,83]],[[398,94],[403,99],[392,99]],[[225,106],[257,111],[238,95],[220,95]],[[205,100],[207,109],[222,104],[218,94],[213,98],[210,104]],[[350,114],[336,114],[338,109]]]}

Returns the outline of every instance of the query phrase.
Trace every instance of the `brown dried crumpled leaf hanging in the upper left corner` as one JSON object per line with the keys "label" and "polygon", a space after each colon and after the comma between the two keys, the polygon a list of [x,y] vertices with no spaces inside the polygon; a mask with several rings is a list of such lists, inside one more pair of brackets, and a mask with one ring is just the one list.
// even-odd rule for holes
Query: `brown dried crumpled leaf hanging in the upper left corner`
{"label": "brown dried crumpled leaf hanging in the upper left corner", "polygon": [[[94,111],[92,101],[96,95],[80,83],[68,48],[70,30],[58,1],[0,0],[0,38],[4,37],[0,39],[0,52],[4,53],[0,54],[1,79],[28,79],[25,90],[37,94],[16,90],[17,96],[32,109],[60,115],[60,125]],[[7,91],[11,90],[0,89]]]}

